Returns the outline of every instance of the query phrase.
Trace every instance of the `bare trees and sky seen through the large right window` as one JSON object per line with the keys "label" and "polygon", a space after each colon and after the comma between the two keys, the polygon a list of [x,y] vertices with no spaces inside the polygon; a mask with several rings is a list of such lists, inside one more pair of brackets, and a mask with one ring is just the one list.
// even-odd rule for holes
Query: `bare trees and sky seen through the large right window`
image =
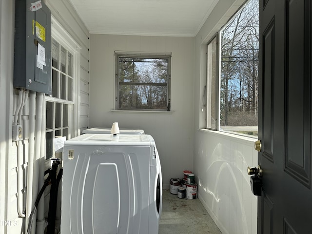
{"label": "bare trees and sky seen through the large right window", "polygon": [[259,1],[250,0],[220,31],[220,128],[257,135]]}

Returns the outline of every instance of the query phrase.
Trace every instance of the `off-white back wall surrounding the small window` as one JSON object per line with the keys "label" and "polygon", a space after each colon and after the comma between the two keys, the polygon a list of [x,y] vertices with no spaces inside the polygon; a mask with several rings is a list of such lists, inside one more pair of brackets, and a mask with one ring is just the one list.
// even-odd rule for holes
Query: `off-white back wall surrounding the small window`
{"label": "off-white back wall surrounding the small window", "polygon": [[[172,52],[171,110],[112,112],[115,104],[114,51]],[[90,127],[143,129],[156,141],[164,187],[193,170],[194,38],[90,35]]]}

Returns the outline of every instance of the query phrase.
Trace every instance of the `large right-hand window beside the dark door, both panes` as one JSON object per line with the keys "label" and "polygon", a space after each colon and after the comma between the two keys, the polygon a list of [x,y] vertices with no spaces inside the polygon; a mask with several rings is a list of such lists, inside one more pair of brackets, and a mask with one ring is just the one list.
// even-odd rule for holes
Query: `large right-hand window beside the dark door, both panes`
{"label": "large right-hand window beside the dark door, both panes", "polygon": [[258,56],[259,1],[249,0],[208,44],[207,128],[257,137]]}

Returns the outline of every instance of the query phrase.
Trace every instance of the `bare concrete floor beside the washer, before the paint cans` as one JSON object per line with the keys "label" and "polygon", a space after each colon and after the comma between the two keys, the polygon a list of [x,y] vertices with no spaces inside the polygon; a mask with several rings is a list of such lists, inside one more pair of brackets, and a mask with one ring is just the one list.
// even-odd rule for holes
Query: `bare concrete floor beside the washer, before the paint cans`
{"label": "bare concrete floor beside the washer, before the paint cans", "polygon": [[158,234],[221,234],[198,198],[178,198],[163,190]]}

